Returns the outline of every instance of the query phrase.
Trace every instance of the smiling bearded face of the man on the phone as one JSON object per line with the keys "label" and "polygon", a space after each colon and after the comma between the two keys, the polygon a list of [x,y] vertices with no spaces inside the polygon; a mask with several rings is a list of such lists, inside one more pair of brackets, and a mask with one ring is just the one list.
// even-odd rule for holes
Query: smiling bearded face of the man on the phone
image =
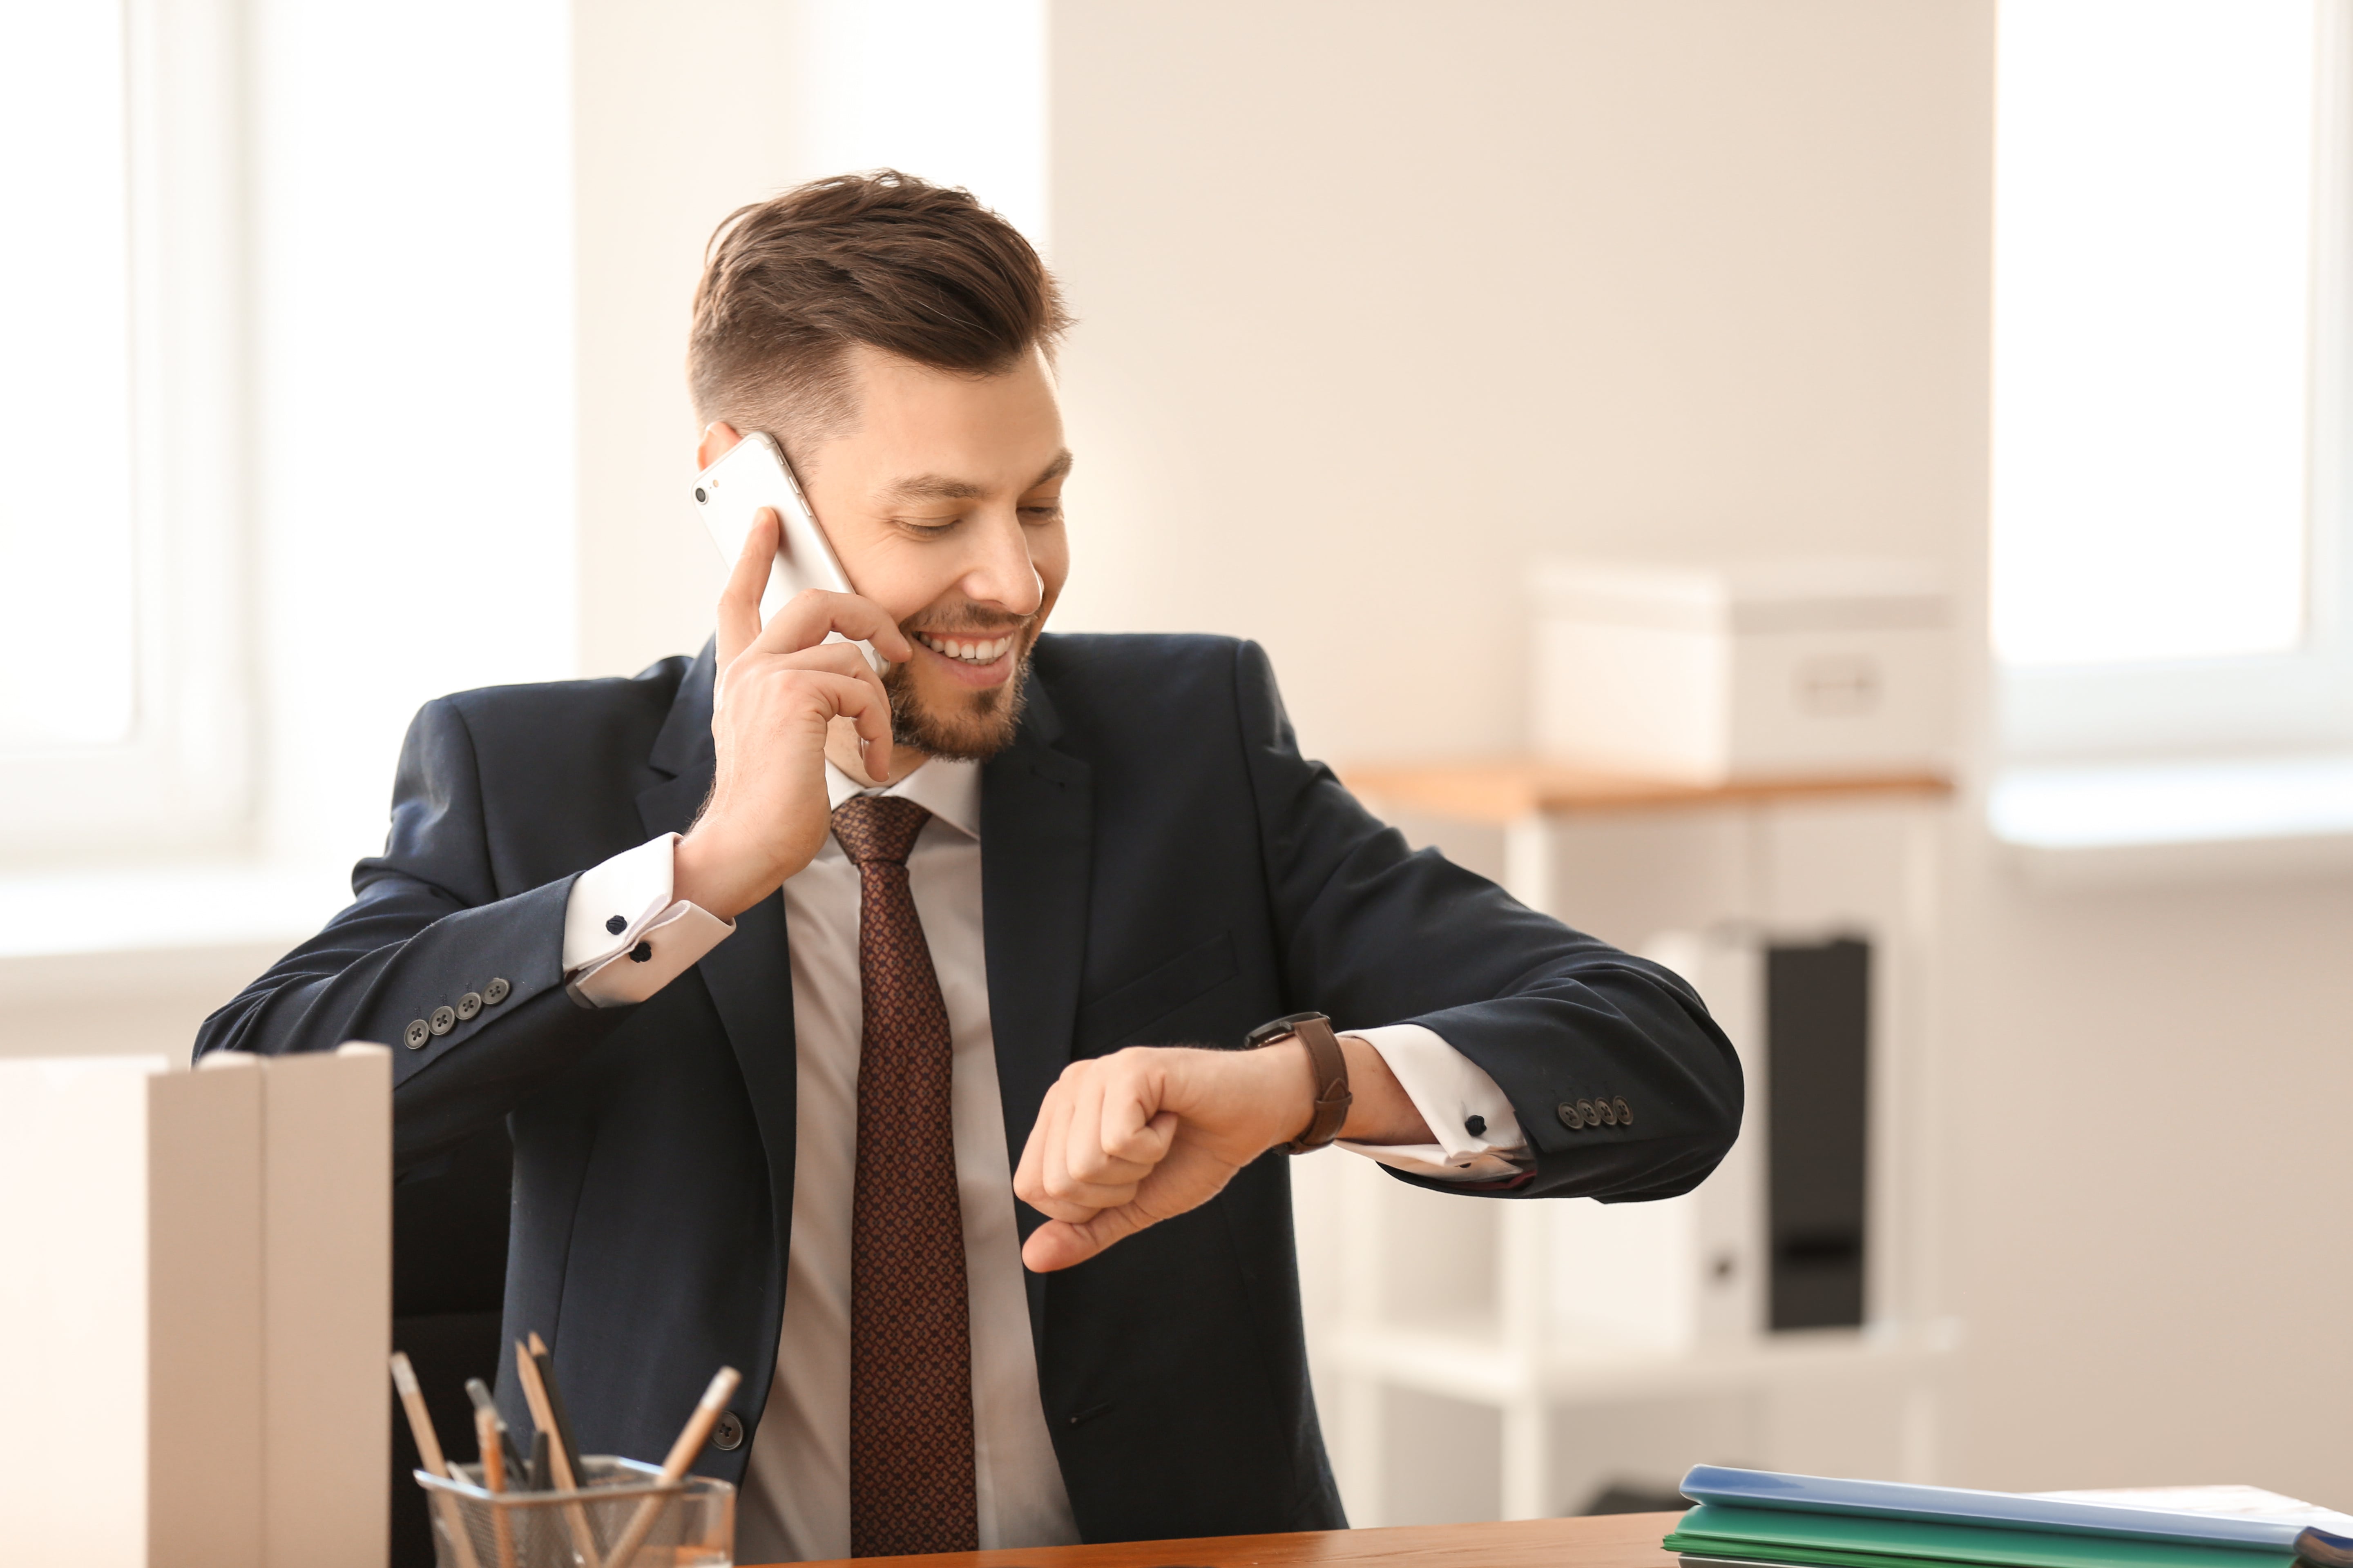
{"label": "smiling bearded face of the man on the phone", "polygon": [[882,684],[894,738],[991,757],[1014,738],[1021,675],[1071,571],[1071,451],[1045,355],[939,371],[864,343],[845,355],[854,416],[791,451],[849,583],[915,644]]}

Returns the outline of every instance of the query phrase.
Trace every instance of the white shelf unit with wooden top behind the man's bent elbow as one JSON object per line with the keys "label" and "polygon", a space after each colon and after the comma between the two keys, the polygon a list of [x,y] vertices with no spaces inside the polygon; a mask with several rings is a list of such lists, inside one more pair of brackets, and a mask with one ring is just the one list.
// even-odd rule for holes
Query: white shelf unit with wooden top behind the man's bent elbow
{"label": "white shelf unit with wooden top behind the man's bent elbow", "polygon": [[[1391,1502],[1400,1465],[1409,1481],[1454,1465],[1461,1486],[1419,1512],[1461,1519],[1562,1514],[1600,1481],[1671,1483],[1697,1460],[1934,1479],[1939,1387],[1960,1345],[1934,1267],[1939,1161],[1922,1114],[1934,1098],[1929,999],[1951,783],[1906,773],[1704,788],[1525,759],[1344,776],[1414,842],[1628,950],[1673,933],[1873,945],[1861,1328],[1767,1333],[1751,1305],[1729,1335],[1652,1333],[1649,1319],[1689,1314],[1675,1319],[1664,1300],[1647,1314],[1640,1281],[1657,1272],[1642,1272],[1640,1248],[1680,1234],[1666,1211],[1697,1194],[1478,1204],[1405,1187],[1369,1161],[1301,1171],[1304,1234],[1320,1237],[1301,1253],[1308,1338],[1351,1519],[1426,1521]],[[1753,1009],[1713,994],[1711,1009],[1755,1063]],[[1711,1180],[1758,1178],[1727,1161]],[[1619,1269],[1638,1284],[1609,1279]],[[1593,1288],[1614,1293],[1607,1312],[1588,1309]],[[1753,1279],[1741,1288],[1760,1300]],[[1414,1396],[1485,1410],[1492,1455],[1407,1443],[1426,1436],[1398,1413]],[[1638,1436],[1617,1443],[1617,1432]]]}

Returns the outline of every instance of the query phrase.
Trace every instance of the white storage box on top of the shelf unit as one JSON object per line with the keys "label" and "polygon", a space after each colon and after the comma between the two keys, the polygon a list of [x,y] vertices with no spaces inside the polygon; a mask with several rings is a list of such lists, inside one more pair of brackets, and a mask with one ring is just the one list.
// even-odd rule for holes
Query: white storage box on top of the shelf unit
{"label": "white storage box on top of the shelf unit", "polygon": [[1537,750],[1725,783],[1951,766],[1953,630],[1915,562],[1537,569]]}

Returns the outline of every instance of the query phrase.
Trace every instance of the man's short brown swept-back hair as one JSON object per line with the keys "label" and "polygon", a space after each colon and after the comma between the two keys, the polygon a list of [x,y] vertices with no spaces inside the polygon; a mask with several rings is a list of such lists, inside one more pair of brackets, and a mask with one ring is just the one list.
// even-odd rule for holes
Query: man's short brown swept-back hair
{"label": "man's short brown swept-back hair", "polygon": [[1038,252],[969,190],[840,174],[739,207],[711,235],[687,390],[706,425],[807,437],[856,416],[852,343],[993,376],[1031,348],[1052,357],[1068,327]]}

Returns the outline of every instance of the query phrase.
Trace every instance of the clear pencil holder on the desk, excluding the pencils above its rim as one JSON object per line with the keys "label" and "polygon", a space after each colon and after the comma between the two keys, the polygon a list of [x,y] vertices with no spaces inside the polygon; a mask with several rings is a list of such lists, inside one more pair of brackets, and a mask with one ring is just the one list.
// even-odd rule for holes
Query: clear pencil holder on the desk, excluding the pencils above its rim
{"label": "clear pencil holder on the desk, excluding the pencils above its rim", "polygon": [[419,1469],[440,1568],[732,1568],[734,1488],[666,1483],[635,1460],[581,1455],[579,1490],[492,1493],[480,1465]]}

